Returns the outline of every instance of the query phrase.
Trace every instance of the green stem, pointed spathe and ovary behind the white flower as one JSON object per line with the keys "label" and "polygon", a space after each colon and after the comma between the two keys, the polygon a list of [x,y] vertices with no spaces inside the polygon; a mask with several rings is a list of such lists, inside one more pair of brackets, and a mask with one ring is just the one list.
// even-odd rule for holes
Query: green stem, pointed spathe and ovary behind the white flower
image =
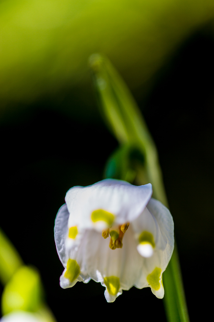
{"label": "green stem, pointed spathe and ovary behind the white flower", "polygon": [[[130,91],[107,58],[94,54],[90,68],[104,119],[121,144],[107,162],[106,177],[151,183],[153,196],[168,206],[158,152]],[[176,245],[163,281],[168,322],[189,322]]]}

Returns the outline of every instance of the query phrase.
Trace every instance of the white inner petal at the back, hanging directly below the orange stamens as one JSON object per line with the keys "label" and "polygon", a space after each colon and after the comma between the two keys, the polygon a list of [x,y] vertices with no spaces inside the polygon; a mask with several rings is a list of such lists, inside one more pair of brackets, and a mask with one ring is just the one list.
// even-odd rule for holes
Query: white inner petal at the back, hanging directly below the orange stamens
{"label": "white inner petal at the back, hanging directly below the orange stamens", "polygon": [[96,282],[101,282],[103,286],[105,286],[105,277],[119,278],[118,293],[111,295],[107,290],[105,292],[107,301],[111,302],[122,294],[122,289],[128,290],[136,283],[143,269],[144,259],[136,249],[132,227],[130,225],[124,234],[122,249],[110,249],[110,238],[104,239],[101,233],[95,230],[88,231],[87,239],[85,262],[90,277]]}

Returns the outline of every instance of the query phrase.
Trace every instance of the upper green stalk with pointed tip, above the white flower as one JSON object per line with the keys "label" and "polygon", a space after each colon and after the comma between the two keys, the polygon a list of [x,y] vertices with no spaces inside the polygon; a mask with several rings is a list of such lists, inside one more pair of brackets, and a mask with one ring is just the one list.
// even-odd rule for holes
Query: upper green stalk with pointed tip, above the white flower
{"label": "upper green stalk with pointed tip, above the white flower", "polygon": [[[137,151],[144,159],[143,166],[135,167],[136,183],[142,185],[150,182],[153,196],[166,205],[157,149],[130,91],[107,58],[94,54],[89,64],[107,126],[122,149],[128,149],[130,154]],[[125,180],[124,177],[117,179]]]}

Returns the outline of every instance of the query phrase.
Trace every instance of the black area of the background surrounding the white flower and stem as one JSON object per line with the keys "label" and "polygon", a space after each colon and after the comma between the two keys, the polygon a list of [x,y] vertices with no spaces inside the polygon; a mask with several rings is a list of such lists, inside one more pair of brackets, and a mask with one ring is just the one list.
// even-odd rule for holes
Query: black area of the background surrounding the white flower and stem
{"label": "black area of the background surrounding the white flower and stem", "polygon": [[[204,27],[158,71],[147,96],[144,88],[133,92],[158,148],[191,321],[204,318],[210,305],[213,57],[213,33]],[[90,102],[85,114],[83,100],[72,100],[72,90],[56,102],[42,97],[6,114],[0,128],[1,227],[24,262],[40,271],[47,303],[58,321],[65,321],[68,313],[73,318],[76,311],[82,319],[108,319],[115,309],[119,319],[129,314],[139,318],[140,312],[144,319],[164,321],[162,300],[149,288],[124,291],[109,304],[105,289],[94,281],[66,290],[59,286],[63,266],[53,234],[58,208],[70,187],[103,178],[105,162],[117,147],[99,115],[92,86],[86,90]]]}

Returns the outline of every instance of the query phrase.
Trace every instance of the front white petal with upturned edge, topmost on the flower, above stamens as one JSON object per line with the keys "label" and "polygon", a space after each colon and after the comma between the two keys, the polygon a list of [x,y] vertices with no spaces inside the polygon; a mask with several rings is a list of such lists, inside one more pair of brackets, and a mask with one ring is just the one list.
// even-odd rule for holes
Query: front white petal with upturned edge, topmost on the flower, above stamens
{"label": "front white petal with upturned edge, topmost on the flower, above stamens", "polygon": [[[91,221],[94,210],[102,209],[115,216],[114,223],[121,224],[137,218],[152,194],[151,184],[134,186],[122,180],[105,179],[87,187],[73,187],[66,196],[70,220],[75,217],[84,228],[97,228]],[[98,230],[102,230],[103,226]]]}

